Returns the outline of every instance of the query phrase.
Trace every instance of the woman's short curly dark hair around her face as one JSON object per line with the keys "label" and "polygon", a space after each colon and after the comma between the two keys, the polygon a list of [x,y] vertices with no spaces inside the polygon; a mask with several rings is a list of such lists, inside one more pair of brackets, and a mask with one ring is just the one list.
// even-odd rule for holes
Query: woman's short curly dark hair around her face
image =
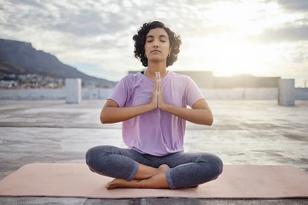
{"label": "woman's short curly dark hair around her face", "polygon": [[170,57],[167,57],[167,67],[171,66],[178,60],[178,54],[180,53],[180,45],[182,45],[181,36],[176,35],[169,28],[165,27],[165,25],[161,22],[150,22],[145,23],[143,26],[138,29],[138,34],[134,35],[132,39],[134,40],[134,57],[137,59],[140,58],[140,61],[144,67],[148,66],[148,59],[144,56],[145,54],[145,40],[146,35],[151,29],[163,28],[168,33],[169,44],[172,48]]}

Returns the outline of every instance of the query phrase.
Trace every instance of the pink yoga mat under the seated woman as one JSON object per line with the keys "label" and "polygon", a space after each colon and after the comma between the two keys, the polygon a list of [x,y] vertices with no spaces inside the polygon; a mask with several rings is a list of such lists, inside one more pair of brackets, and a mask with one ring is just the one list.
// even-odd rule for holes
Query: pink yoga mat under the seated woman
{"label": "pink yoga mat under the seated woman", "polygon": [[91,172],[82,163],[32,163],[0,181],[0,196],[308,198],[308,174],[292,166],[225,165],[218,179],[176,190],[107,190],[105,185],[112,179]]}

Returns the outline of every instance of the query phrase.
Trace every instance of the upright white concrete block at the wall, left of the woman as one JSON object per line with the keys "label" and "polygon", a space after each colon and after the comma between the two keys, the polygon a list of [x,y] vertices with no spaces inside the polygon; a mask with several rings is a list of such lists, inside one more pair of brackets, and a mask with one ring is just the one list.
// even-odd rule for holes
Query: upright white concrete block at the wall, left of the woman
{"label": "upright white concrete block at the wall, left of the woman", "polygon": [[66,103],[81,102],[81,78],[65,79]]}

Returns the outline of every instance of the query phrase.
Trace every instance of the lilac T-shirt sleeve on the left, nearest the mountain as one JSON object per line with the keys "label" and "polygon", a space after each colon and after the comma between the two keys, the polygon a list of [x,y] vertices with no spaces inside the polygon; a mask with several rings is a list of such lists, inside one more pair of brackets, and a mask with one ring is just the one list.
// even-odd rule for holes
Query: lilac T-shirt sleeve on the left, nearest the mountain
{"label": "lilac T-shirt sleeve on the left, nearest the mountain", "polygon": [[119,83],[114,87],[113,91],[109,95],[107,99],[114,100],[120,108],[123,108],[127,99],[127,81],[125,77],[123,77]]}

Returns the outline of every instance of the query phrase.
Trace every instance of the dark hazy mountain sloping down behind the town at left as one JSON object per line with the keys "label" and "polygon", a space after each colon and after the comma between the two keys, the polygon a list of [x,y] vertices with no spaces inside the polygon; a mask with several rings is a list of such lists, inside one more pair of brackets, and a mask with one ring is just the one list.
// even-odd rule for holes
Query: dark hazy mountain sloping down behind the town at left
{"label": "dark hazy mountain sloping down behind the town at left", "polygon": [[37,73],[61,78],[81,78],[83,81],[92,81],[104,86],[115,86],[118,83],[86,75],[61,63],[54,55],[34,49],[31,43],[0,39],[0,73],[9,71],[16,74]]}

